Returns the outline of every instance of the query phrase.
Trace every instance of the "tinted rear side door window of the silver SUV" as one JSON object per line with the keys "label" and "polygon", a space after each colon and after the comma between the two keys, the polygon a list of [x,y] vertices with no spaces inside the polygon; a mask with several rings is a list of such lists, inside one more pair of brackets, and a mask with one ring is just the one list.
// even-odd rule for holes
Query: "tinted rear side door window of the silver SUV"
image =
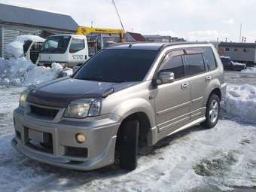
{"label": "tinted rear side door window of the silver SUV", "polygon": [[206,71],[206,68],[203,62],[203,56],[201,53],[185,55],[184,59],[186,62],[188,75],[196,75]]}

